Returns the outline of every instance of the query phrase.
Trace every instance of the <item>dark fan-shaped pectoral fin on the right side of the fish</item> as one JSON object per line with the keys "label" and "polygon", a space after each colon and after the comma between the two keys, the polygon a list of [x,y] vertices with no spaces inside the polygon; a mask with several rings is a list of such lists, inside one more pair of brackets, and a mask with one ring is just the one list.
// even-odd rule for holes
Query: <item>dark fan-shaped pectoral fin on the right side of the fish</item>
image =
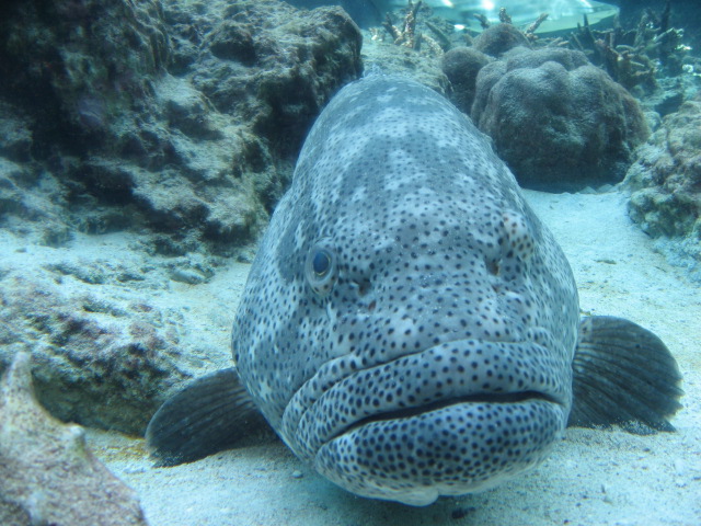
{"label": "dark fan-shaped pectoral fin on the right side of the fish", "polygon": [[573,362],[570,426],[618,424],[639,434],[675,431],[681,375],[659,338],[621,318],[597,316],[579,324]]}

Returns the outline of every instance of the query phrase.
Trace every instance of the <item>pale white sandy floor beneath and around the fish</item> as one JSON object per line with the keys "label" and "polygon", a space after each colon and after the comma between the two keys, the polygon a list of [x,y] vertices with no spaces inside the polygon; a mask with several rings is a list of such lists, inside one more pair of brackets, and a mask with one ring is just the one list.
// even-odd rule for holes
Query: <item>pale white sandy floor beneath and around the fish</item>
{"label": "pale white sandy floor beneath and around the fish", "polygon": [[[686,391],[677,433],[568,430],[530,473],[425,508],[346,493],[277,442],[176,468],[152,468],[141,441],[91,433],[91,443],[138,491],[152,526],[701,525],[701,289],[654,252],[619,193],[527,197],[570,259],[583,311],[652,329],[677,357]],[[202,307],[200,323],[221,338],[235,304],[228,295],[240,293],[244,276],[232,265],[207,286],[174,293],[188,295],[188,316]],[[211,295],[221,299],[222,290],[226,305],[212,319]]]}

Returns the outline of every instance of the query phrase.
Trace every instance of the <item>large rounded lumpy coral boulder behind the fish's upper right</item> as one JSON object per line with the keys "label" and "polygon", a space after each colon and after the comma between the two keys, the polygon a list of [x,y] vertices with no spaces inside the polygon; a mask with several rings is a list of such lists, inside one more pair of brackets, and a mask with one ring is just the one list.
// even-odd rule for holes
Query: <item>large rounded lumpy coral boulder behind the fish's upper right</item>
{"label": "large rounded lumpy coral boulder behind the fish's upper right", "polygon": [[519,183],[547,190],[622,180],[648,135],[623,87],[559,48],[516,48],[483,67],[471,116]]}

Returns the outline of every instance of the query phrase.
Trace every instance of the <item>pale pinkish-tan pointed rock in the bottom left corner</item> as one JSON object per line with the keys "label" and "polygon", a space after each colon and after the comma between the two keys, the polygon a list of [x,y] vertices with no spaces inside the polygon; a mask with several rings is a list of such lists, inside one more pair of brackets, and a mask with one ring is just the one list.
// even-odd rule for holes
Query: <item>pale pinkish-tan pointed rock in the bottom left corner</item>
{"label": "pale pinkish-tan pointed rock in the bottom left corner", "polygon": [[30,355],[0,386],[0,521],[8,526],[146,525],[135,492],[88,449],[83,431],[34,398]]}

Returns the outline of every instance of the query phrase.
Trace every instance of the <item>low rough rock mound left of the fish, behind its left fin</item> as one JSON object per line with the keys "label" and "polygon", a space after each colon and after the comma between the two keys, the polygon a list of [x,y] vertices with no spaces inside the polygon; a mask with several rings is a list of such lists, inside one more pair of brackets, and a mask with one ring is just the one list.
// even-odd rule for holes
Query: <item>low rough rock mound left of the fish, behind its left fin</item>
{"label": "low rough rock mound left of the fish, behind its left fin", "polygon": [[81,285],[50,283],[48,273],[2,279],[0,370],[15,352],[31,351],[37,398],[54,416],[142,433],[164,392],[193,374],[174,362],[185,348],[194,351],[179,342],[179,316],[140,302],[138,294],[104,299],[118,282],[100,265],[56,262],[53,271]]}

